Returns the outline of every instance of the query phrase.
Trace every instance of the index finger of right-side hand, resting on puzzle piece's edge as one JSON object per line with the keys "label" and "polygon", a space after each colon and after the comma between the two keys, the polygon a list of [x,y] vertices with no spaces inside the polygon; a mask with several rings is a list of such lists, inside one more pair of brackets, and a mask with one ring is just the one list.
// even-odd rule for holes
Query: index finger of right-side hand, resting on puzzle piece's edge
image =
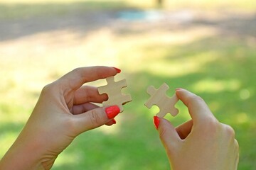
{"label": "index finger of right-side hand, resting on puzzle piece's edge", "polygon": [[211,120],[209,118],[215,119],[213,113],[211,113],[207,104],[201,97],[185,89],[177,89],[176,95],[188,107],[188,112],[195,125],[205,120]]}

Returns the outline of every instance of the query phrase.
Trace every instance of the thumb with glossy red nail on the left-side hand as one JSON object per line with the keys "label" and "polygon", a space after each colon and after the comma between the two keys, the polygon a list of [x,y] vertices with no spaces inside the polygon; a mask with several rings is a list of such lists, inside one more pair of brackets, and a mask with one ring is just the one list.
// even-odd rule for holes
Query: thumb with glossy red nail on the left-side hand
{"label": "thumb with glossy red nail on the left-side hand", "polygon": [[98,128],[113,120],[120,113],[118,106],[95,108],[80,115],[75,115],[78,134]]}

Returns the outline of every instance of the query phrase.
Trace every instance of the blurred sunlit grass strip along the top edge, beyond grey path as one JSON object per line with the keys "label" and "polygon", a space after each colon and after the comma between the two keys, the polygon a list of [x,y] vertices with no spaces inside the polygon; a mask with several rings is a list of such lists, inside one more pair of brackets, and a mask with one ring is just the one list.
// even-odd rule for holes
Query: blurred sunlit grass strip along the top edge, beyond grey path
{"label": "blurred sunlit grass strip along the top edge, beyond grey path", "polygon": [[[30,17],[48,18],[51,16],[65,16],[70,13],[80,13],[84,11],[114,10],[121,8],[154,8],[156,1],[136,1],[136,0],[2,0],[0,2],[0,19],[21,19]],[[177,8],[191,8],[197,10],[220,10],[220,11],[255,11],[256,1],[233,0],[231,1],[165,1],[164,8],[176,10]]]}

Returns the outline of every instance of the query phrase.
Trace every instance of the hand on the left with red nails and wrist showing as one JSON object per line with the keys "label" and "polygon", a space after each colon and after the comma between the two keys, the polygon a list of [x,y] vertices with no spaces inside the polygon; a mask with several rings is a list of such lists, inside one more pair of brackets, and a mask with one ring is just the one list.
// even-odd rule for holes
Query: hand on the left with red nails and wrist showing
{"label": "hand on the left with red nails and wrist showing", "polygon": [[0,162],[0,169],[50,169],[58,154],[80,133],[112,125],[118,106],[99,108],[107,100],[86,82],[119,72],[112,67],[74,69],[43,88],[38,103],[21,134]]}

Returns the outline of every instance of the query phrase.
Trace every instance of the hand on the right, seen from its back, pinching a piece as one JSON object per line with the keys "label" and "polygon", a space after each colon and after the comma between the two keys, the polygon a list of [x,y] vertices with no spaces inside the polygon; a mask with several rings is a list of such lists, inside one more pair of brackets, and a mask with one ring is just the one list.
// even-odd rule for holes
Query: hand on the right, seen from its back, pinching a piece
{"label": "hand on the right, seen from its back, pinching a piece", "polygon": [[192,120],[174,128],[154,117],[171,168],[174,170],[234,170],[238,168],[238,141],[229,125],[219,123],[200,97],[184,89],[176,95],[188,107]]}

